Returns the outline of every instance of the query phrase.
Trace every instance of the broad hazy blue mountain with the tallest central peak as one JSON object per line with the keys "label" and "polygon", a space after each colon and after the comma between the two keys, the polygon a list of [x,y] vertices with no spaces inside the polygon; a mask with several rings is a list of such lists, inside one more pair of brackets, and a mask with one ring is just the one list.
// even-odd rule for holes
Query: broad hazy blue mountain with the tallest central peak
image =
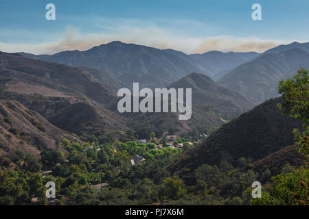
{"label": "broad hazy blue mountain with the tallest central peak", "polygon": [[[27,57],[33,55],[25,54]],[[86,66],[104,70],[117,77],[119,81],[127,83],[126,75],[134,82],[139,77],[144,78],[141,86],[160,88],[168,83],[176,81],[190,72],[198,71],[198,68],[160,49],[126,44],[123,42],[109,42],[87,51],[63,51],[54,55],[38,55],[35,58],[67,64],[70,66]],[[149,77],[149,78],[148,78]]]}

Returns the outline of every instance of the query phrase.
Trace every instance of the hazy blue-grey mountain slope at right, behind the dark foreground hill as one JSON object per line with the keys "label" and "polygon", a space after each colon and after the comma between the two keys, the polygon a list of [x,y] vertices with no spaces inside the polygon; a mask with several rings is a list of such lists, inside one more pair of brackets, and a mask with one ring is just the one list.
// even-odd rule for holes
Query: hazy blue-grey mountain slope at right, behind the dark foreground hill
{"label": "hazy blue-grey mountain slope at right, behind the dark foreground hill", "polygon": [[299,64],[309,61],[309,53],[290,49],[281,53],[265,53],[242,64],[218,80],[222,86],[246,96],[255,104],[279,96],[280,79],[291,77]]}

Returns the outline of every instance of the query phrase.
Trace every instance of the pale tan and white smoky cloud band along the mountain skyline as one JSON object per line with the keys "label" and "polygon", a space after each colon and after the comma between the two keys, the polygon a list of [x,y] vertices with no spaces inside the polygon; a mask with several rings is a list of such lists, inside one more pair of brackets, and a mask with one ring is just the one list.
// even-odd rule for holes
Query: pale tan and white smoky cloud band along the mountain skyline
{"label": "pale tan and white smoky cloud band along the mountain skyline", "polygon": [[[99,32],[82,34],[78,28],[67,27],[61,33],[55,33],[56,40],[45,40],[39,43],[4,43],[0,42],[0,51],[19,52],[34,54],[52,54],[59,51],[75,50],[80,51],[91,47],[105,44],[113,40],[126,43],[143,44],[158,49],[176,49],[185,53],[205,53],[207,51],[257,51],[263,52],[279,44],[288,44],[293,40],[273,40],[260,39],[254,36],[212,36],[212,37],[192,37],[181,36],[181,34],[171,29],[154,25],[152,21],[147,23],[141,21],[128,21],[118,19],[106,21],[93,19],[93,23]],[[113,25],[111,25],[113,23]],[[158,23],[158,21],[156,21]],[[190,25],[192,28],[201,28],[203,24],[196,22],[174,21],[175,25]],[[101,30],[101,31],[100,31]],[[40,33],[42,34],[42,33]],[[32,33],[34,35],[34,33]]]}

